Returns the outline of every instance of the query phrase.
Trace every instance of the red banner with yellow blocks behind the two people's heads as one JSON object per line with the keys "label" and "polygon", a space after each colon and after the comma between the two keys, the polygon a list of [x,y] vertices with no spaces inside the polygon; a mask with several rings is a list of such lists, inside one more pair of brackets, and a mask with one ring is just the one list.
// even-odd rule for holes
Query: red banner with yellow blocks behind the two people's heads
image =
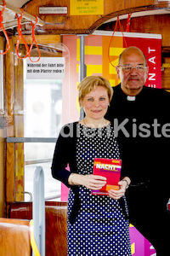
{"label": "red banner with yellow blocks behind the two people's heads", "polygon": [[[161,35],[130,32],[125,32],[123,35],[124,38],[122,32],[115,32],[112,37],[112,32],[96,31],[93,35],[85,37],[87,76],[103,75],[110,81],[111,86],[116,86],[120,83],[116,77],[115,68],[119,55],[126,48],[125,45],[137,46],[144,52],[149,66],[145,85],[161,88]],[[63,36],[63,44],[70,52],[70,78],[65,79],[63,84],[63,124],[65,124],[79,119],[77,84],[79,83],[80,37]]]}

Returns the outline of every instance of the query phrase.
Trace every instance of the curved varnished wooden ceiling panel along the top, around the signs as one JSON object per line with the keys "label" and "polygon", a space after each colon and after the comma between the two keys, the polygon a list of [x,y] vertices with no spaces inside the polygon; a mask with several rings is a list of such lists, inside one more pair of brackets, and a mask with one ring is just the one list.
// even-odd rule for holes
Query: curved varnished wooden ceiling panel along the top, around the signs
{"label": "curved varnished wooden ceiling panel along the top, around the signs", "polygon": [[[67,15],[39,15],[39,7],[42,6],[66,6]],[[26,3],[25,10],[31,15],[37,15],[47,22],[43,27],[37,27],[37,33],[85,33],[89,34],[104,23],[117,15],[128,13],[169,8],[170,3],[154,0],[129,0],[129,1],[111,1],[104,0],[104,15],[70,15],[70,0],[37,0]]]}

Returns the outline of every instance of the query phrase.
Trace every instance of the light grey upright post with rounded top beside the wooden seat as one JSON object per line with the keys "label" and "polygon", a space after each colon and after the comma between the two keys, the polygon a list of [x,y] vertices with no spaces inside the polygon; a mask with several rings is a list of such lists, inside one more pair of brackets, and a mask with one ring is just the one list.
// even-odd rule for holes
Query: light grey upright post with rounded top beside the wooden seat
{"label": "light grey upright post with rounded top beside the wooden seat", "polygon": [[[33,230],[37,248],[41,256],[45,256],[45,199],[44,174],[41,166],[37,166],[33,183]],[[35,256],[34,253],[32,253]]]}

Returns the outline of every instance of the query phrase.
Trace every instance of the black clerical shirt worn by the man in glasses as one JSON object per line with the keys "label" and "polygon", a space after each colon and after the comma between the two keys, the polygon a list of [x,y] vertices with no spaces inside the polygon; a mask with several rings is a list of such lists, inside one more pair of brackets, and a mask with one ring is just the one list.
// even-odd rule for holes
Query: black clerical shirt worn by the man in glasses
{"label": "black clerical shirt worn by the man in glasses", "polygon": [[159,185],[170,172],[170,94],[144,86],[139,95],[130,97],[121,84],[113,90],[105,118],[114,124],[124,168],[133,184]]}

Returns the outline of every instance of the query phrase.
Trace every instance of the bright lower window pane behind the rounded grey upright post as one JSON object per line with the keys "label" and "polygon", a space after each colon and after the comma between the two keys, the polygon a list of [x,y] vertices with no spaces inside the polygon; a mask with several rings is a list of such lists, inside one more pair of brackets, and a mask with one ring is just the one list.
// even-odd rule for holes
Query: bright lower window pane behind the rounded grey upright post
{"label": "bright lower window pane behind the rounded grey upright post", "polygon": [[[45,198],[59,201],[60,182],[52,177],[50,170],[54,147],[55,143],[25,143],[25,191],[33,195],[34,172],[37,166],[42,166]],[[25,194],[25,201],[29,200],[29,196]]]}

